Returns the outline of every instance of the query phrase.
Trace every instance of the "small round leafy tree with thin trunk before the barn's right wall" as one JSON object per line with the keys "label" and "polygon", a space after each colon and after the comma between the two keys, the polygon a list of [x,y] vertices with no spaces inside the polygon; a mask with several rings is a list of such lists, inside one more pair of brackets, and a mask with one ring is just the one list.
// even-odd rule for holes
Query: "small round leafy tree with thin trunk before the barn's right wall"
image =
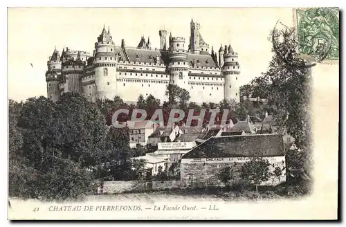
{"label": "small round leafy tree with thin trunk before the barn's right wall", "polygon": [[269,166],[271,164],[264,158],[253,156],[251,160],[244,163],[240,170],[240,176],[246,183],[250,183],[256,186],[256,192],[258,192],[258,186],[268,181],[271,176],[269,172]]}

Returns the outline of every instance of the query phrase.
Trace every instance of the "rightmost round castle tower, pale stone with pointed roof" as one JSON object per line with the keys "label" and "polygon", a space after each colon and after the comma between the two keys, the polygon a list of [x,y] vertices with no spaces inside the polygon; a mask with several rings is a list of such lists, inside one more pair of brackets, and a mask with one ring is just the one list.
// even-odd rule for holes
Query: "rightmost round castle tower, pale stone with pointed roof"
{"label": "rightmost round castle tower, pale stone with pointed roof", "polygon": [[224,99],[235,99],[240,101],[239,86],[237,83],[240,73],[240,65],[238,63],[238,54],[233,51],[232,46],[228,46],[227,52],[224,54],[224,65],[221,67],[221,73],[225,78]]}

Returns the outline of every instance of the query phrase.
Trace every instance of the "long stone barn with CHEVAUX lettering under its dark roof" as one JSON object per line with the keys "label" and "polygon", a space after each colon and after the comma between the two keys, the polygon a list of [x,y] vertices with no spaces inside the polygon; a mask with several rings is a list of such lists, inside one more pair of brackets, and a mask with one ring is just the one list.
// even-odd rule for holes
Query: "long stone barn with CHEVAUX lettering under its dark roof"
{"label": "long stone barn with CHEVAUX lettering under its dark roof", "polygon": [[[252,156],[260,156],[282,170],[281,177],[272,176],[266,185],[286,181],[286,161],[283,136],[279,134],[254,134],[211,137],[181,158],[181,183],[188,187],[222,185],[218,174],[225,167],[237,173]],[[239,174],[234,174],[233,183],[240,183]]]}

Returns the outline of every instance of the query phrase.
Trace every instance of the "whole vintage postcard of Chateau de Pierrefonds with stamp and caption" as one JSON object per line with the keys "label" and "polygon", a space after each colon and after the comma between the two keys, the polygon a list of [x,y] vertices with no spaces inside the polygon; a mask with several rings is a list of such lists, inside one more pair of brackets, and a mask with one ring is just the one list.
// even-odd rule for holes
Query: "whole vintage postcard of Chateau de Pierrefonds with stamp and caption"
{"label": "whole vintage postcard of Chateau de Pierrefonds with stamp and caption", "polygon": [[8,219],[338,219],[339,30],[338,8],[8,8]]}

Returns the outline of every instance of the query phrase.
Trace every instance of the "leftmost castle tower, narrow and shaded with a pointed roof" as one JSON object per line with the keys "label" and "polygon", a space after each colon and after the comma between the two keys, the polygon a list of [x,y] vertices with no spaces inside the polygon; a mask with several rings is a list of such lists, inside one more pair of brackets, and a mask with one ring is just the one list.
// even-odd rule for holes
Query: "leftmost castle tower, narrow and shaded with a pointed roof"
{"label": "leftmost castle tower, narrow and shaded with a pointed roof", "polygon": [[59,100],[59,80],[62,70],[62,61],[60,58],[60,53],[55,48],[51,57],[47,62],[48,69],[46,71],[46,82],[47,82],[47,98],[56,102]]}

